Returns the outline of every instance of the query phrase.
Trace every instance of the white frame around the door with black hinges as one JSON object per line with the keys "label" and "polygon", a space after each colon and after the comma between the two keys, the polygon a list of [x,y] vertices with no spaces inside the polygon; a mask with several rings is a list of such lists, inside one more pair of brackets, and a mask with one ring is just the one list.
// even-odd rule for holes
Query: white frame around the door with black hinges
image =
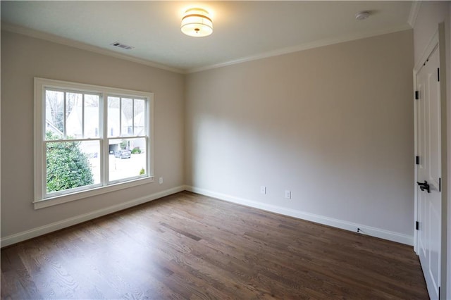
{"label": "white frame around the door with black hinges", "polygon": [[[416,90],[416,75],[419,73],[419,70],[423,66],[424,62],[427,60],[428,56],[435,49],[435,46],[438,45],[439,55],[440,55],[440,118],[441,118],[441,164],[442,164],[442,180],[441,180],[441,192],[442,192],[442,230],[441,230],[441,258],[440,258],[440,299],[451,299],[451,295],[446,295],[447,291],[447,282],[451,282],[451,278],[447,278],[447,93],[446,93],[446,49],[445,49],[445,24],[438,24],[438,30],[435,32],[435,35],[431,38],[428,43],[428,46],[423,52],[420,60],[416,62],[414,67],[414,91]],[[451,51],[448,49],[447,51]],[[417,118],[416,118],[416,100],[413,97],[414,101],[414,156],[418,155],[417,149]],[[418,165],[416,165],[416,160],[414,159],[414,182],[412,183],[412,187],[414,188],[414,222],[418,220],[418,193],[416,187],[416,181],[418,179]],[[451,217],[451,216],[450,216]],[[415,226],[415,224],[414,224]],[[418,231],[414,230],[414,251],[418,254]],[[451,249],[450,249],[451,251]],[[451,283],[449,283],[451,284]]]}

